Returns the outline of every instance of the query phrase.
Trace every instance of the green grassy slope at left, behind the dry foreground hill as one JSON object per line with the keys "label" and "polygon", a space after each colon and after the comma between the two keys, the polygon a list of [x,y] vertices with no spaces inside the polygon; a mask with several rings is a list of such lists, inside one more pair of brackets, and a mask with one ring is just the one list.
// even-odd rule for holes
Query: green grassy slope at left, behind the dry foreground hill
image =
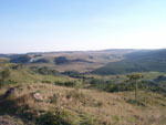
{"label": "green grassy slope at left, behind the dry foreground hill", "polygon": [[8,77],[8,80],[10,80],[10,83],[54,83],[55,81],[65,82],[73,80],[68,76],[59,76],[55,70],[51,70],[49,67],[41,66],[32,70],[28,65],[9,63],[8,60],[0,59],[0,72],[6,69],[9,69],[10,72],[10,75]]}

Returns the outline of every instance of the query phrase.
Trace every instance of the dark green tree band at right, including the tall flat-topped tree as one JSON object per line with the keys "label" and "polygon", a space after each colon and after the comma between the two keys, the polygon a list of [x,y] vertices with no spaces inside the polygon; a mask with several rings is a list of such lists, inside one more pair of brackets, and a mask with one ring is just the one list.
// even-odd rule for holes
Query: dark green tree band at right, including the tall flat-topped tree
{"label": "dark green tree band at right, including the tall flat-topped tree", "polygon": [[[142,74],[132,73],[126,75],[126,80],[124,82],[114,82],[114,81],[104,81],[100,79],[91,79],[86,81],[91,84],[91,88],[97,88],[105,92],[114,93],[114,92],[134,92],[135,102],[138,103],[138,91],[151,91],[159,94],[166,94],[166,84],[165,82],[160,83],[152,83],[149,81],[145,81]],[[165,79],[165,76],[158,76],[159,80]],[[157,79],[157,80],[158,80]]]}

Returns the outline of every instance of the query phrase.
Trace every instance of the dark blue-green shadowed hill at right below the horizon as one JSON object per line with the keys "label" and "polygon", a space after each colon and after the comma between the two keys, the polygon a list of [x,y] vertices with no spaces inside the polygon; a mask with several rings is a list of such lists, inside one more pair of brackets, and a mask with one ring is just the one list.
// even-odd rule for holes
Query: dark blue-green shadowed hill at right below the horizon
{"label": "dark blue-green shadowed hill at right below the horizon", "polygon": [[131,72],[166,72],[166,50],[138,50],[124,55],[124,60],[111,62],[92,73],[123,74]]}

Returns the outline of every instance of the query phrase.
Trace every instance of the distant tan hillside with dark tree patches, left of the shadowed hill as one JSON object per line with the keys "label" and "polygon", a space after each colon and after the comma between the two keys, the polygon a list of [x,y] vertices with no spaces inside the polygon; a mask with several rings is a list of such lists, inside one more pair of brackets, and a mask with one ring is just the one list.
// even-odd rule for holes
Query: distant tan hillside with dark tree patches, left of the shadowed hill
{"label": "distant tan hillside with dark tree patches, left of the shadowed hill", "polygon": [[103,50],[103,51],[71,51],[71,52],[45,52],[27,54],[0,54],[11,63],[23,63],[28,66],[49,66],[59,72],[77,71],[91,72],[104,66],[110,62],[120,61],[125,53],[134,50]]}

